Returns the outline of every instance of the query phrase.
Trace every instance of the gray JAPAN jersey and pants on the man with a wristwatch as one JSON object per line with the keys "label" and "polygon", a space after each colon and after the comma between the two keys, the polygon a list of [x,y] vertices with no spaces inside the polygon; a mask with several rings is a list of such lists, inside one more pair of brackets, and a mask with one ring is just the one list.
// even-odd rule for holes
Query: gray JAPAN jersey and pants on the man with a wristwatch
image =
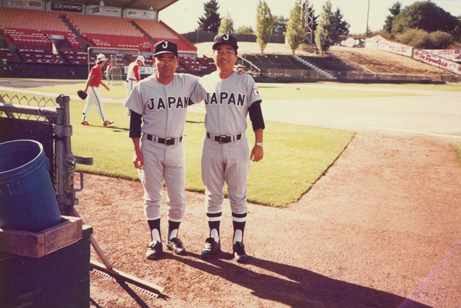
{"label": "gray JAPAN jersey and pants on the man with a wristwatch", "polygon": [[[213,72],[199,79],[199,85],[191,96],[193,102],[202,99],[207,111],[207,133],[201,154],[207,214],[221,212],[225,182],[228,185],[231,211],[235,214],[246,213],[250,166],[245,136],[246,118],[251,104],[261,101],[258,88],[250,75],[234,72],[231,77],[221,79],[219,72]],[[213,215],[207,215],[207,219],[213,220]],[[246,216],[233,219],[244,221]]]}

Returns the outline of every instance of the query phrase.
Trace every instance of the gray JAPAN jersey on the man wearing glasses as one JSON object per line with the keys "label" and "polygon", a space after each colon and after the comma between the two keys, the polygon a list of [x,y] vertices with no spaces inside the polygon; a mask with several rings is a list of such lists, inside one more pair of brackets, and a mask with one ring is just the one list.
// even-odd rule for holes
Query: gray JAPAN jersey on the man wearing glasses
{"label": "gray JAPAN jersey on the man wearing glasses", "polygon": [[136,84],[125,106],[142,115],[143,133],[162,138],[181,137],[189,97],[197,80],[194,75],[175,73],[168,85],[162,85],[151,75]]}

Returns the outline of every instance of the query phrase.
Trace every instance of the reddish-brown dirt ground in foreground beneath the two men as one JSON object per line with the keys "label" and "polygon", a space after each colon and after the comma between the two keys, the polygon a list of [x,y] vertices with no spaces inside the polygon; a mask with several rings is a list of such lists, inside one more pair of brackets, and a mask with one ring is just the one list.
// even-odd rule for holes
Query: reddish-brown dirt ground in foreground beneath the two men
{"label": "reddish-brown dirt ground in foreground beneath the two men", "polygon": [[[243,265],[231,260],[228,203],[219,258],[200,258],[204,196],[188,192],[179,230],[188,254],[151,261],[141,183],[85,175],[77,210],[113,266],[165,287],[154,298],[92,272],[91,307],[460,307],[461,163],[451,141],[357,133],[299,202],[249,205]],[[165,238],[165,216],[161,227]]]}

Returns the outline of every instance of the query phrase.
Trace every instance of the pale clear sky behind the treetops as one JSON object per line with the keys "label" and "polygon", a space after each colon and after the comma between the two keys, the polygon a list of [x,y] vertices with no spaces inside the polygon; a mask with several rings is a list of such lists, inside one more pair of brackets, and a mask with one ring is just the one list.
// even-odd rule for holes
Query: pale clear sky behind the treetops
{"label": "pale clear sky behind the treetops", "polygon": [[[398,0],[402,8],[409,6],[418,0]],[[423,0],[420,0],[423,1]],[[160,20],[164,21],[178,33],[187,33],[197,28],[199,17],[204,15],[203,4],[208,0],[179,0],[173,5],[160,11]],[[221,17],[231,15],[234,21],[234,29],[245,25],[255,29],[256,6],[259,0],[218,0],[219,14]],[[266,0],[272,15],[290,17],[290,11],[295,5],[295,0]],[[304,2],[304,0],[303,0]],[[309,0],[313,5],[315,15],[319,15],[326,0]],[[381,30],[389,8],[397,0],[369,0],[370,11],[368,27],[372,31]],[[453,16],[461,16],[461,0],[432,0],[437,6],[443,8]],[[344,19],[350,24],[350,33],[365,33],[368,0],[331,0],[333,10],[338,7],[344,15]]]}

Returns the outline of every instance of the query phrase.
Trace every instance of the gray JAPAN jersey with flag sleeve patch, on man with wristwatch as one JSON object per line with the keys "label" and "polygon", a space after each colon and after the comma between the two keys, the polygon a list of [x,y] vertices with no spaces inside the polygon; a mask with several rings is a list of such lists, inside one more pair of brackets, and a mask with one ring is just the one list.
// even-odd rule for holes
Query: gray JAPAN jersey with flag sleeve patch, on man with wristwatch
{"label": "gray JAPAN jersey with flag sleeve patch, on man with wristwatch", "polygon": [[247,129],[248,108],[260,102],[254,79],[248,74],[234,72],[226,79],[212,72],[199,79],[191,96],[194,103],[205,102],[205,128],[213,135],[236,135]]}

